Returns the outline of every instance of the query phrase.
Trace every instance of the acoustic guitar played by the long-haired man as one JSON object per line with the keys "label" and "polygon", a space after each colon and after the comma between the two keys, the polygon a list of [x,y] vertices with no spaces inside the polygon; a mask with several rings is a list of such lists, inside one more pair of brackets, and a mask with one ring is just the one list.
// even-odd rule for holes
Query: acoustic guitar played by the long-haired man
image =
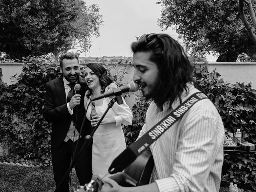
{"label": "acoustic guitar played by the long-haired man", "polygon": [[[130,164],[124,172],[110,176],[119,185],[124,187],[134,187],[149,183],[151,172],[154,167],[154,160],[150,150],[144,151],[136,160]],[[80,186],[77,192],[97,192],[102,188],[101,178],[97,175],[92,176],[90,183]]]}

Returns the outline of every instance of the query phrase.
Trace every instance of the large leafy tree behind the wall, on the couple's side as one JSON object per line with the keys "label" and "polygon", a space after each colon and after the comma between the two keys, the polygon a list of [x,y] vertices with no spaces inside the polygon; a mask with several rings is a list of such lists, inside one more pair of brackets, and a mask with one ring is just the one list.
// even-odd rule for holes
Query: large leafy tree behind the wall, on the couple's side
{"label": "large leafy tree behind the wall, on the couple's side", "polygon": [[82,0],[0,0],[0,51],[10,58],[91,47],[103,23],[99,8]]}

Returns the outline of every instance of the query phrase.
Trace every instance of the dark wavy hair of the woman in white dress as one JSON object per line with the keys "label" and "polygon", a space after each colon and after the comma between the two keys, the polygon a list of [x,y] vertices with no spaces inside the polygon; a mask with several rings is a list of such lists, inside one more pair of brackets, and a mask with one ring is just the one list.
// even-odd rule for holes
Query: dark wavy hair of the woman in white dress
{"label": "dark wavy hair of the woman in white dress", "polygon": [[[88,63],[86,64],[94,74],[96,74],[100,80],[101,94],[105,92],[106,87],[112,82],[112,79],[108,76],[106,68],[98,63]],[[89,88],[89,93],[86,95],[87,98],[90,98],[92,95],[92,90]]]}

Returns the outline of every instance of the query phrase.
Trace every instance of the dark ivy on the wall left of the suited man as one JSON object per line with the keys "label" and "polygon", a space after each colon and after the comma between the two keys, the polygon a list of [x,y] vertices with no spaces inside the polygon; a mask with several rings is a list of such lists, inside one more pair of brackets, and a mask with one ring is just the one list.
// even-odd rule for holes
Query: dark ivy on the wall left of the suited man
{"label": "dark ivy on the wall left of the suited man", "polygon": [[50,164],[49,124],[43,118],[44,84],[60,76],[57,65],[30,59],[18,82],[0,86],[0,142],[8,140],[10,154]]}

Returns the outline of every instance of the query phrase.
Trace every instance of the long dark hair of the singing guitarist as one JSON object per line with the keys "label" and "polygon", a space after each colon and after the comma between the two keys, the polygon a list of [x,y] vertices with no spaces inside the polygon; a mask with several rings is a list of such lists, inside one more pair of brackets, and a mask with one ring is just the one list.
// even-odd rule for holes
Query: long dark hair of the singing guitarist
{"label": "long dark hair of the singing guitarist", "polygon": [[131,45],[132,52],[150,52],[150,61],[156,63],[158,79],[156,90],[151,98],[162,110],[165,102],[172,102],[188,92],[187,82],[195,82],[190,64],[182,46],[167,34],[147,34]]}

